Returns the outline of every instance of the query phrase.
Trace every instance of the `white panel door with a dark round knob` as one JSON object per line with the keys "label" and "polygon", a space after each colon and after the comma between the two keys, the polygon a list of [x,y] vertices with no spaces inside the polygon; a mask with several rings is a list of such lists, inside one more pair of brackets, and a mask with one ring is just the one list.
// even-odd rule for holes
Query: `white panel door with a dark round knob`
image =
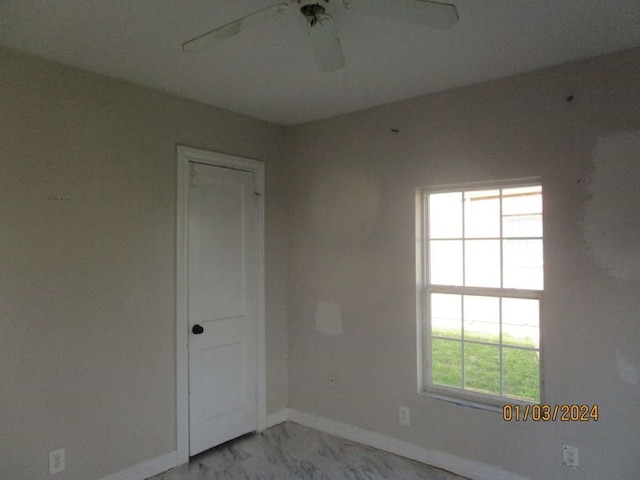
{"label": "white panel door with a dark round knob", "polygon": [[256,429],[258,209],[252,172],[191,163],[189,454]]}

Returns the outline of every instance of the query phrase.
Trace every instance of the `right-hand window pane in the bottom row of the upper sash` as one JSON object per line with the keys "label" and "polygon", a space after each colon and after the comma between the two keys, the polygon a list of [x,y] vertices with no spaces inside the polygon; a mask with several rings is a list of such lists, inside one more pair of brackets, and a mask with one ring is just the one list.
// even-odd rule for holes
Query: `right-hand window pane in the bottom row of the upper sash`
{"label": "right-hand window pane in the bottom row of the upper sash", "polygon": [[504,240],[504,288],[542,290],[542,240]]}

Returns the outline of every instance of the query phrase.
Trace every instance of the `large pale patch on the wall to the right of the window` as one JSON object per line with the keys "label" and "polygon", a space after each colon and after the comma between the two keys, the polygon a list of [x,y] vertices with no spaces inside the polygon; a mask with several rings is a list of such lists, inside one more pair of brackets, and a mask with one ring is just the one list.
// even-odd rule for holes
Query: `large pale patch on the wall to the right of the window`
{"label": "large pale patch on the wall to the right of the window", "polygon": [[640,131],[598,139],[585,207],[589,255],[612,277],[640,279]]}

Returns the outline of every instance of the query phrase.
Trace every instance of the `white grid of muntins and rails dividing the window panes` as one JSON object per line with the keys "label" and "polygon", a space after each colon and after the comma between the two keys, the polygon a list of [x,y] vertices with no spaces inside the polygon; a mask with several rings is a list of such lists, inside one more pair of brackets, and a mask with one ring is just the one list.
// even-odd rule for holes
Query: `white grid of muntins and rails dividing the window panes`
{"label": "white grid of muntins and rails dividing the window panes", "polygon": [[[540,236],[535,236],[535,237],[505,237],[504,236],[504,217],[503,217],[503,192],[504,190],[509,190],[511,188],[524,188],[524,187],[538,187],[540,188],[540,195],[542,195],[542,188],[539,182],[532,182],[532,183],[513,183],[511,184],[510,182],[505,182],[504,184],[500,185],[500,186],[494,186],[493,188],[491,188],[490,186],[477,186],[477,187],[471,187],[471,188],[459,188],[459,187],[452,187],[451,189],[434,189],[434,190],[428,190],[428,191],[423,191],[423,216],[422,216],[422,223],[423,223],[423,244],[422,244],[422,249],[423,252],[425,252],[426,254],[423,255],[423,261],[422,261],[422,268],[423,268],[423,272],[424,272],[424,277],[427,281],[426,284],[424,285],[423,288],[423,294],[424,294],[424,302],[423,302],[423,308],[425,309],[425,311],[427,312],[427,315],[424,316],[423,318],[426,320],[426,329],[424,330],[424,334],[425,334],[425,347],[426,347],[426,356],[425,356],[425,360],[428,362],[427,364],[427,368],[425,369],[425,380],[426,380],[426,388],[427,390],[434,390],[436,392],[450,392],[452,394],[454,394],[455,396],[458,397],[462,397],[464,398],[465,396],[473,398],[473,399],[477,399],[480,400],[481,402],[485,402],[485,403],[494,403],[494,404],[498,404],[498,401],[504,401],[505,399],[520,399],[522,401],[529,401],[529,400],[524,400],[521,399],[520,397],[515,397],[515,396],[509,396],[509,395],[505,395],[504,393],[504,350],[505,348],[507,349],[517,349],[517,350],[525,350],[525,351],[533,351],[533,352],[537,352],[538,353],[538,358],[539,358],[539,363],[538,363],[538,402],[542,400],[542,394],[543,394],[543,379],[542,379],[542,368],[543,368],[543,364],[542,364],[542,346],[541,346],[541,330],[540,330],[540,326],[541,326],[541,321],[540,321],[540,317],[542,315],[541,313],[541,304],[542,304],[542,291],[544,288],[544,283],[542,285],[541,289],[519,289],[519,288],[504,288],[504,240],[541,240],[544,241],[544,231],[542,230],[542,233]],[[499,190],[499,215],[500,215],[500,237],[498,238],[498,240],[500,241],[500,288],[494,288],[494,287],[468,287],[466,286],[466,232],[465,232],[465,228],[466,228],[466,219],[465,219],[465,215],[466,215],[466,209],[465,209],[465,193],[467,192],[471,192],[471,191],[481,191],[481,190],[487,190],[487,189],[496,189]],[[430,237],[430,226],[429,226],[429,195],[431,194],[436,194],[436,193],[460,193],[462,196],[462,236],[460,238],[437,238],[434,240],[439,240],[439,241],[445,241],[445,240],[461,240],[462,241],[462,285],[461,286],[457,286],[457,285],[432,285],[431,284],[431,262],[430,262],[430,247],[431,247],[431,237]],[[543,200],[542,200],[543,201]],[[533,215],[533,214],[532,214]],[[537,214],[536,214],[537,215]],[[541,217],[543,215],[543,212],[541,211],[540,214]],[[496,240],[495,237],[482,237],[482,238],[473,238],[473,240],[482,240],[482,239],[486,239],[486,240]],[[543,267],[544,268],[544,267]],[[543,278],[544,278],[544,270],[543,270]],[[452,338],[448,338],[448,337],[440,337],[440,336],[434,336],[431,334],[431,328],[432,328],[432,324],[431,324],[431,294],[432,293],[443,293],[443,294],[458,294],[461,295],[461,301],[460,301],[460,308],[461,308],[461,337],[460,339],[452,339]],[[490,343],[490,342],[481,342],[481,341],[475,341],[475,340],[466,340],[465,339],[465,328],[464,328],[464,323],[465,323],[465,315],[464,315],[464,296],[466,295],[481,295],[481,296],[495,296],[499,298],[499,344],[495,344],[495,343]],[[503,341],[503,305],[502,305],[502,300],[503,298],[516,298],[516,299],[531,299],[531,300],[537,300],[538,302],[538,348],[532,348],[532,347],[523,347],[523,346],[518,346],[518,345],[507,345],[505,346],[504,341]],[[447,385],[440,385],[440,384],[436,384],[433,382],[433,372],[432,372],[432,367],[433,367],[433,349],[431,346],[431,340],[433,338],[436,339],[443,339],[443,340],[447,340],[447,341],[455,341],[455,342],[460,342],[462,344],[461,348],[462,348],[462,358],[461,358],[461,377],[462,377],[462,387],[452,387],[452,386],[447,386]],[[496,395],[496,394],[492,394],[492,393],[487,393],[485,391],[478,391],[478,390],[470,390],[467,389],[465,387],[465,350],[464,350],[464,346],[465,343],[472,343],[472,344],[486,344],[486,345],[491,345],[491,346],[497,346],[499,349],[499,368],[500,368],[500,394]],[[423,347],[423,348],[425,348]],[[462,395],[461,395],[462,394]]]}

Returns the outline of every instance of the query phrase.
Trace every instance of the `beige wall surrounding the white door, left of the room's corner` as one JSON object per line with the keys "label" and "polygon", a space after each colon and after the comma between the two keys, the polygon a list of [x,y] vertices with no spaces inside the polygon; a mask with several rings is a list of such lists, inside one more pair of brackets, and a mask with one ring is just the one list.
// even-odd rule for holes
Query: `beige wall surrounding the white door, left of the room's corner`
{"label": "beige wall surrounding the white door, left of the room's corner", "polygon": [[280,127],[0,50],[0,478],[175,450],[176,144],[265,161],[268,410],[287,405]]}

